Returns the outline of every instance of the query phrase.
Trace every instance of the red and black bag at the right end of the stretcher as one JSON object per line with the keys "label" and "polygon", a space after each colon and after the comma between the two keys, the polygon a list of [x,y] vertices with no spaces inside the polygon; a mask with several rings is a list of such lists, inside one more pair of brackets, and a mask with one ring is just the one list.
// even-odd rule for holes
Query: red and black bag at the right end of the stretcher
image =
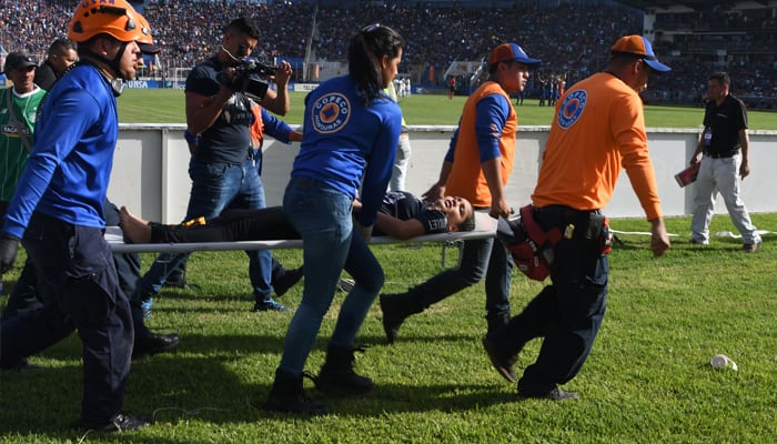
{"label": "red and black bag at the right end of the stretcher", "polygon": [[562,233],[558,229],[544,232],[534,220],[534,209],[526,205],[509,220],[500,218],[496,238],[509,251],[521,272],[542,282],[551,274],[553,245],[562,239]]}

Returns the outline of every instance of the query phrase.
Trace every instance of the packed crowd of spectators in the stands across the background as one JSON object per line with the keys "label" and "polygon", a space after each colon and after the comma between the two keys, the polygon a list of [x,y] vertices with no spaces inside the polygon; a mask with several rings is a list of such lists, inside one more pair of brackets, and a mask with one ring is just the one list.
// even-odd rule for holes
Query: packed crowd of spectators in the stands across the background
{"label": "packed crowd of spectators in the stands across the background", "polygon": [[[350,36],[342,30],[380,22],[394,27],[407,41],[402,71],[411,74],[414,84],[432,87],[446,84],[443,77],[452,62],[482,60],[491,48],[504,41],[521,42],[545,62],[546,77],[564,75],[568,87],[604,67],[607,49],[618,36],[642,31],[642,13],[614,2],[599,2],[602,4],[596,8],[581,2],[558,2],[552,7],[516,2],[511,7],[488,8],[462,7],[456,2],[270,3],[148,0],[138,8],[144,10],[151,22],[164,23],[154,30],[157,40],[164,48],[164,67],[191,67],[196,60],[213,53],[221,27],[230,18],[241,14],[259,17],[264,23],[259,49],[253,56],[265,61],[276,57],[304,58],[311,36],[310,60],[344,61],[343,49]],[[51,40],[67,29],[71,7],[70,0],[4,0],[0,9],[0,43],[7,51],[27,49],[42,60]],[[770,23],[764,20],[765,13],[764,10],[754,10],[736,18],[720,10],[659,14],[656,29],[747,27],[753,23],[764,27]],[[656,51],[674,70],[650,84],[645,93],[646,100],[699,103],[707,73],[720,69],[737,79],[733,89],[740,97],[777,97],[777,83],[773,81],[774,56],[749,54],[749,51],[757,53],[759,49],[773,48],[773,32],[733,37],[725,43],[698,39],[677,37],[674,42],[656,42]],[[699,46],[716,48],[716,44],[733,46],[737,52],[726,57],[722,65],[719,58],[709,56],[710,51],[698,51]],[[536,79],[531,82],[529,97],[536,95],[539,89]]]}

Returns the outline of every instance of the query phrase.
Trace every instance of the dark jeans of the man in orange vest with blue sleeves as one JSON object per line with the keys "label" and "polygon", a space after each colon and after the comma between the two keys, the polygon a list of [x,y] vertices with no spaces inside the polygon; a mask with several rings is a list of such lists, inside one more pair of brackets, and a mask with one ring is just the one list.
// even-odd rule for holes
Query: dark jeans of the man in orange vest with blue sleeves
{"label": "dark jeans of the man in orange vest with blue sleeves", "polygon": [[485,278],[486,316],[509,315],[509,278],[513,261],[501,242],[494,239],[464,241],[457,268],[437,273],[426,282],[407,291],[417,312]]}

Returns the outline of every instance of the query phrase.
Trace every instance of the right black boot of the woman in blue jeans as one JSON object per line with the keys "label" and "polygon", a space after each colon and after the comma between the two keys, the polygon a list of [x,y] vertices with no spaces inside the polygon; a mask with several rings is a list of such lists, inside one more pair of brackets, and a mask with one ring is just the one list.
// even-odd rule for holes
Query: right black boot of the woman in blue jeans
{"label": "right black boot of the woman in blue jeans", "polygon": [[363,395],[372,392],[372,380],[353,371],[353,352],[364,349],[340,349],[330,345],[326,362],[321,366],[315,387],[330,395]]}

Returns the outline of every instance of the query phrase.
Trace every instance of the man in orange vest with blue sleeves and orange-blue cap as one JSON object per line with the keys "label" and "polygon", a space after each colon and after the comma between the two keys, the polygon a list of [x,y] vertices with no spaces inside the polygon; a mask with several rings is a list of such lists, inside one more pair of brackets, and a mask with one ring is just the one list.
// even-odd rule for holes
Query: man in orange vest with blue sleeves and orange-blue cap
{"label": "man in orange vest with blue sleeves and orange-blue cap", "polygon": [[[424,194],[425,199],[460,195],[472,202],[475,211],[487,212],[492,218],[511,214],[504,186],[513,171],[518,118],[509,94],[524,90],[529,70],[539,63],[515,43],[500,44],[492,51],[490,78],[464,104],[440,179]],[[494,245],[494,239],[468,240],[464,241],[461,255],[458,268],[445,270],[406,293],[381,295],[389,343],[396,340],[405,319],[478,283],[484,276],[488,331],[507,323],[512,261],[505,248]]]}

